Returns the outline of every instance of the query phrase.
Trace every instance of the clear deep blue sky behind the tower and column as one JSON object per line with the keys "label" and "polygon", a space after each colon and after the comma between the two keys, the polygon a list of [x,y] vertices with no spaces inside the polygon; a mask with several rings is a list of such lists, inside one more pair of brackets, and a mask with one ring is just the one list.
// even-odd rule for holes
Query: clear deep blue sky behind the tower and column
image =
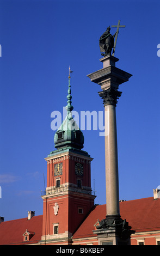
{"label": "clear deep blue sky behind the tower and column", "polygon": [[[152,197],[159,179],[159,1],[0,1],[0,216],[42,214],[44,160],[54,150],[51,113],[103,111],[101,88],[87,77],[102,68],[99,38],[121,25],[116,66],[132,74],[116,107],[120,199]],[[114,34],[115,28],[111,29]],[[83,131],[94,158],[96,204],[106,203],[104,137]]]}

